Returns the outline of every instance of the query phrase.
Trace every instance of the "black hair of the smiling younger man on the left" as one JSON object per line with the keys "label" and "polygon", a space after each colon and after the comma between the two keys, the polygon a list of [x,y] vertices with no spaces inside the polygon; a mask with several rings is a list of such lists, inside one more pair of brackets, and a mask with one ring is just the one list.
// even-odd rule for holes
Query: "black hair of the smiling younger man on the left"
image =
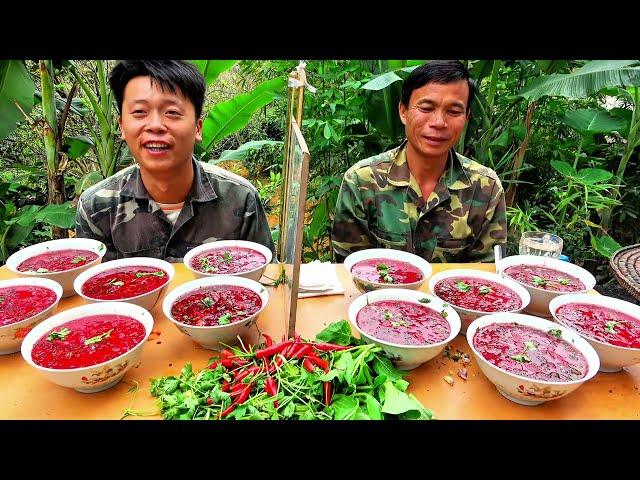
{"label": "black hair of the smiling younger man on the left", "polygon": [[118,111],[122,113],[122,100],[127,83],[135,77],[151,77],[163,90],[175,94],[176,89],[187,97],[196,111],[202,114],[207,88],[204,76],[192,63],[182,60],[122,60],[111,71],[109,85],[116,97]]}

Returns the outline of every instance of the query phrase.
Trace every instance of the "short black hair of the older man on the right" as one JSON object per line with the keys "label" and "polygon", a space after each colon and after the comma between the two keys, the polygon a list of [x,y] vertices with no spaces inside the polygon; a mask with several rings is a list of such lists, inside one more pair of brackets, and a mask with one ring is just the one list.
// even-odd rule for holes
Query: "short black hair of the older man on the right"
{"label": "short black hair of the older man on the right", "polygon": [[459,60],[431,60],[414,69],[402,84],[402,104],[408,107],[413,91],[423,85],[453,83],[459,80],[466,80],[469,84],[468,113],[471,111],[471,103],[475,97],[476,82],[470,78],[469,70]]}

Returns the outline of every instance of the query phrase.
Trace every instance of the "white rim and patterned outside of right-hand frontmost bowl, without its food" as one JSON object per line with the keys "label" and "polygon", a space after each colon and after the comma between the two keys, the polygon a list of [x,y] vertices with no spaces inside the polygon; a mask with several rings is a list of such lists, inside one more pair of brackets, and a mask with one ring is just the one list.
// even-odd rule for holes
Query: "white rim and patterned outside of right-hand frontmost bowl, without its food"
{"label": "white rim and patterned outside of right-hand frontmost bowl, without its food", "polygon": [[[533,327],[544,332],[548,332],[551,329],[561,330],[561,338],[570,342],[571,345],[576,347],[586,357],[587,364],[589,365],[587,374],[580,380],[574,380],[571,382],[545,382],[509,373],[485,360],[485,358],[473,346],[473,337],[476,334],[476,331],[481,327],[493,323],[513,322],[518,323],[519,325]],[[598,373],[598,368],[600,368],[598,354],[580,337],[580,335],[563,325],[559,325],[550,320],[533,317],[531,315],[522,315],[520,313],[493,313],[491,315],[479,317],[471,322],[471,325],[469,325],[469,328],[467,329],[467,342],[469,342],[471,351],[476,357],[480,370],[482,370],[482,373],[484,373],[489,381],[495,385],[498,392],[512,402],[519,403],[521,405],[539,405],[549,400],[562,398],[573,392],[587,380],[591,379],[596,373]]]}

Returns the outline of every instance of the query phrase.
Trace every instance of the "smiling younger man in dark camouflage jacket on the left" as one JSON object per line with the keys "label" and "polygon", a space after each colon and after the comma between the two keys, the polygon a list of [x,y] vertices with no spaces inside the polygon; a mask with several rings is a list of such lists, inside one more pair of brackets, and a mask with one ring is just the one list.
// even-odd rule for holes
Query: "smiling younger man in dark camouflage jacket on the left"
{"label": "smiling younger man in dark camouflage jacket on the left", "polygon": [[119,62],[109,78],[120,131],[137,165],[80,196],[76,235],[107,246],[104,260],[155,257],[180,262],[214,240],[250,240],[274,251],[256,189],[193,158],[202,140],[206,84],[187,62]]}

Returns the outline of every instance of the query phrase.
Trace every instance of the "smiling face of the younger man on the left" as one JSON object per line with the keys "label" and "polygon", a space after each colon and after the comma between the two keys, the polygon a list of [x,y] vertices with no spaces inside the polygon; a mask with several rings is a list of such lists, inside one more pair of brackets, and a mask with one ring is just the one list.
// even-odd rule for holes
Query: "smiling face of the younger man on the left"
{"label": "smiling face of the younger man on the left", "polygon": [[124,89],[120,131],[140,167],[162,175],[191,161],[202,120],[180,90],[171,93],[150,77],[135,77]]}

